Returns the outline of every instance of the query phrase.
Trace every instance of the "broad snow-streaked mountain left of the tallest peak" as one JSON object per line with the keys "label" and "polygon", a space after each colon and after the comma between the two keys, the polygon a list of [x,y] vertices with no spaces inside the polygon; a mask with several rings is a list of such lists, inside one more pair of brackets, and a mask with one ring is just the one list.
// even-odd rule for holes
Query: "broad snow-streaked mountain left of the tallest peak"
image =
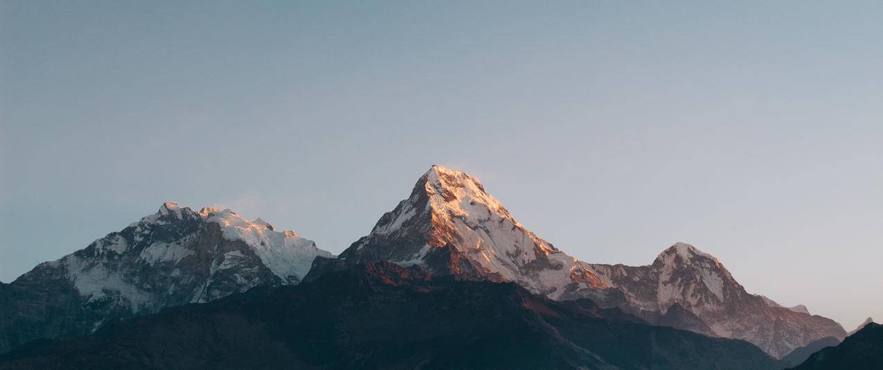
{"label": "broad snow-streaked mountain left of the tallest peak", "polygon": [[229,209],[194,212],[167,202],[155,215],[0,284],[0,353],[254,286],[299,283],[316,256],[332,254]]}

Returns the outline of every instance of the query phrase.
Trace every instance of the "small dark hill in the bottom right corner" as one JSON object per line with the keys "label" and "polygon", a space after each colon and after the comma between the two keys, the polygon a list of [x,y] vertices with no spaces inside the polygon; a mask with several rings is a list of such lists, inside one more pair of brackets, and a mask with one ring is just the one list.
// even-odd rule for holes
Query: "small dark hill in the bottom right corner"
{"label": "small dark hill in the bottom right corner", "polygon": [[834,347],[813,353],[795,370],[879,370],[883,366],[883,325],[870,322]]}

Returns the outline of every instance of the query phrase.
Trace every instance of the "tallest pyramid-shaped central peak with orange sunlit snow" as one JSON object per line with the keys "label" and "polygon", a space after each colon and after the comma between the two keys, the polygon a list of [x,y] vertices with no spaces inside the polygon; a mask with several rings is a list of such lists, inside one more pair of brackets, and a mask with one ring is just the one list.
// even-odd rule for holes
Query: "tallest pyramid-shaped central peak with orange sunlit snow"
{"label": "tallest pyramid-shaped central peak with orange sunlit snow", "polygon": [[551,298],[603,287],[583,263],[515,221],[479,179],[438,165],[340,259],[381,259],[434,274],[512,281]]}

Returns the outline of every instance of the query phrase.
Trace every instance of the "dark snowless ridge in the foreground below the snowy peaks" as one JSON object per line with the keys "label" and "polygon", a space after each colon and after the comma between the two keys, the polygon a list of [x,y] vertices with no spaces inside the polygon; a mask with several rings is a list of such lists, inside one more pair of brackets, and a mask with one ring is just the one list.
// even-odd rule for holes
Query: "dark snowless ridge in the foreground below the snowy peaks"
{"label": "dark snowless ridge in the foreground below the snowy peaks", "polygon": [[[389,262],[28,344],[0,369],[777,369],[739,340]],[[584,305],[585,304],[585,305]],[[613,310],[618,311],[618,310]]]}

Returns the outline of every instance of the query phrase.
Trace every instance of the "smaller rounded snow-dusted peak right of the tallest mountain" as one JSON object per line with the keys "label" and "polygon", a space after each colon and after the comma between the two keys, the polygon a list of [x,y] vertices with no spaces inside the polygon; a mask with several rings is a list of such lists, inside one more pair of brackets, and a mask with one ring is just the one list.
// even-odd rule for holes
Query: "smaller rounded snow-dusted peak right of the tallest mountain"
{"label": "smaller rounded snow-dusted peak right of the tallest mountain", "polygon": [[[672,245],[652,265],[590,265],[625,296],[624,308],[666,312],[677,305],[695,313],[712,336],[744,339],[777,358],[797,347],[846,332],[840,324],[749,294],[714,256],[683,243]],[[702,331],[698,331],[702,332]]]}

